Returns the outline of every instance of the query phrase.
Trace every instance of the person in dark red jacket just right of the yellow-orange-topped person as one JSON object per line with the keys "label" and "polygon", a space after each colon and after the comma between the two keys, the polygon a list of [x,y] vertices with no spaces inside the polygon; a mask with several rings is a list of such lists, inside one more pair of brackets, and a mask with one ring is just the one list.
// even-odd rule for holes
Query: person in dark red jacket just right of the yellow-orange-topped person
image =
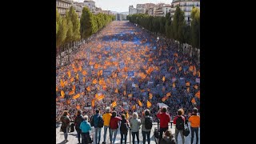
{"label": "person in dark red jacket just right of the yellow-orange-topped person", "polygon": [[117,112],[113,111],[110,118],[110,144],[114,144],[115,142],[115,138],[118,134],[118,122],[120,122],[121,120],[121,118],[117,117]]}

